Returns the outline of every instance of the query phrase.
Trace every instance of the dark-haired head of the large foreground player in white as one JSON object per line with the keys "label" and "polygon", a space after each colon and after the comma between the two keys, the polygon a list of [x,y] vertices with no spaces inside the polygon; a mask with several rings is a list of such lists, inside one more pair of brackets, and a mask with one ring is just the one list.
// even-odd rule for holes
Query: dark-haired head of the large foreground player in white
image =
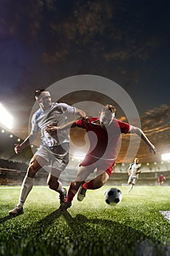
{"label": "dark-haired head of the large foreground player in white", "polygon": [[51,95],[49,91],[45,89],[37,89],[35,91],[36,102],[42,106],[42,108],[49,108],[51,106]]}

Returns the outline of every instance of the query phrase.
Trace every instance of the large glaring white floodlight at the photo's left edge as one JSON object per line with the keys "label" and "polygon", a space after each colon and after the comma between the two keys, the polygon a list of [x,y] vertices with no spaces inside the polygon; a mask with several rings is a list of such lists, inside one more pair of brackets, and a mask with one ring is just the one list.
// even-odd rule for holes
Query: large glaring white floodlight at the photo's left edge
{"label": "large glaring white floodlight at the photo's left edge", "polygon": [[12,116],[0,103],[0,124],[6,127],[7,129],[12,129],[12,121],[13,121]]}

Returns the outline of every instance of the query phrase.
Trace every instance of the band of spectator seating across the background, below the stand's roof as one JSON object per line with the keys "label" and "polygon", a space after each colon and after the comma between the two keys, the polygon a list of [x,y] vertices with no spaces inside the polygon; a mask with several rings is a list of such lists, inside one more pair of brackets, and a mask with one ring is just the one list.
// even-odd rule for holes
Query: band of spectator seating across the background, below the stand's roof
{"label": "band of spectator seating across the background, below the stand's roof", "polygon": [[[154,164],[152,164],[154,165]],[[28,165],[22,162],[13,162],[7,159],[0,159],[0,185],[20,185],[22,184],[23,178],[26,175]],[[120,168],[118,170],[118,167]],[[74,180],[77,175],[78,170],[78,162],[77,167],[73,167],[68,165],[66,170],[61,174],[61,181],[63,184],[69,185],[71,181]],[[48,173],[50,172],[50,168],[46,167],[45,169],[39,170],[36,173],[36,178],[34,181],[35,185],[45,185],[47,181]],[[164,182],[165,186],[170,185],[170,170],[145,170],[142,167],[142,173],[139,175],[139,180],[137,182],[138,186],[155,186],[158,184],[158,176],[163,173],[166,177],[166,181]],[[91,174],[89,178],[93,178],[95,173]],[[108,185],[111,186],[126,186],[128,181],[128,170],[121,171],[121,164],[117,164],[117,169],[112,173],[107,181]]]}

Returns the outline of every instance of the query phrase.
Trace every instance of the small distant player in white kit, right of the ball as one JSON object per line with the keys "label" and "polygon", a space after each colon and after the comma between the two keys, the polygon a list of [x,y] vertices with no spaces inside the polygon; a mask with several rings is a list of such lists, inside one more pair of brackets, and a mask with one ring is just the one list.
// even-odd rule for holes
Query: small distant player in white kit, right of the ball
{"label": "small distant player in white kit, right of the ball", "polygon": [[133,189],[136,181],[139,178],[139,173],[141,173],[140,169],[141,165],[139,164],[139,159],[136,157],[134,159],[134,163],[132,163],[128,168],[128,184],[131,185],[130,189],[128,190],[128,194],[131,192],[131,189]]}

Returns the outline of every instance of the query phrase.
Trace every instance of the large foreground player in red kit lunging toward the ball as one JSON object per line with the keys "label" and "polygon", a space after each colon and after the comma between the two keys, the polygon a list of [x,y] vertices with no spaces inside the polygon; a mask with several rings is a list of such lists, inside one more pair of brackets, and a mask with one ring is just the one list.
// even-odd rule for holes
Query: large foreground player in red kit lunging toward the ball
{"label": "large foreground player in red kit lunging toward the ball", "polygon": [[[60,206],[61,211],[66,211],[72,206],[72,200],[77,191],[77,199],[82,201],[85,198],[87,189],[99,189],[102,187],[112,173],[112,167],[115,165],[117,152],[117,143],[121,133],[136,133],[147,143],[150,151],[155,153],[155,146],[150,143],[144,132],[138,127],[133,127],[115,118],[115,107],[105,105],[99,113],[99,117],[88,119],[80,119],[69,122],[61,127],[48,125],[46,132],[54,135],[56,132],[73,127],[81,127],[88,132],[90,140],[90,148],[85,156],[85,159],[80,164],[77,177],[70,184],[69,192],[66,197],[66,202]],[[90,173],[96,170],[96,178],[86,181]]]}

